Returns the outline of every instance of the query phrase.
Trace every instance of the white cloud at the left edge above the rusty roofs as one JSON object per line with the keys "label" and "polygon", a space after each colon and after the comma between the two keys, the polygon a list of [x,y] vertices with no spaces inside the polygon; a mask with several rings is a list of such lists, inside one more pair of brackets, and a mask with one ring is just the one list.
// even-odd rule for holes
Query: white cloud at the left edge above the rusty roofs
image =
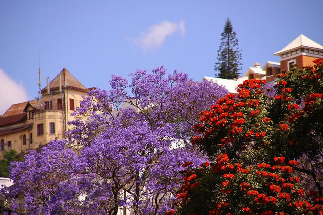
{"label": "white cloud at the left edge above the rusty roofs", "polygon": [[4,114],[12,104],[27,100],[28,93],[23,84],[13,80],[0,69],[0,114]]}

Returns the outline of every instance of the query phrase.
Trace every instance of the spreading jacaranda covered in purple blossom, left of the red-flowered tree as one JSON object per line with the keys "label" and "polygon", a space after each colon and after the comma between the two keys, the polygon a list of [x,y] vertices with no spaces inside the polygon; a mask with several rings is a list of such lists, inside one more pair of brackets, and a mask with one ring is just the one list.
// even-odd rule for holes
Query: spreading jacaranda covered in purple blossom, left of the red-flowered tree
{"label": "spreading jacaranda covered in purple blossom, left of the red-flowered tree", "polygon": [[78,119],[69,122],[67,141],[12,163],[15,184],[2,191],[8,205],[30,214],[160,214],[172,208],[182,164],[206,160],[189,141],[198,113],[228,92],[177,71],[165,74],[164,67],[137,70],[129,84],[113,76],[109,92],[92,90],[73,113]]}

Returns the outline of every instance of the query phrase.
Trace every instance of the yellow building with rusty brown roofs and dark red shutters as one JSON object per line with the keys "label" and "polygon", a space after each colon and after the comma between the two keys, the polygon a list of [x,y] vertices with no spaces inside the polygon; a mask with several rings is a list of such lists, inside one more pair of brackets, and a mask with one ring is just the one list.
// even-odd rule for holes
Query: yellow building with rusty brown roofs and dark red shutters
{"label": "yellow building with rusty brown roofs and dark red shutters", "polygon": [[10,149],[21,153],[64,139],[67,122],[75,119],[70,114],[91,89],[64,68],[41,90],[42,98],[12,105],[0,117],[0,159]]}

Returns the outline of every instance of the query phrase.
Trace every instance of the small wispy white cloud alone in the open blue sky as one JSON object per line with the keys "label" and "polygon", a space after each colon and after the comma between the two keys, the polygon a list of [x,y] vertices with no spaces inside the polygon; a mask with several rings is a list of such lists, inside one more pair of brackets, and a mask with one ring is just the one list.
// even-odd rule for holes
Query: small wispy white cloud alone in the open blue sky
{"label": "small wispy white cloud alone in the open blue sky", "polygon": [[147,31],[141,33],[136,39],[136,43],[143,49],[159,48],[164,44],[167,36],[171,36],[176,32],[180,32],[182,37],[185,35],[184,21],[179,23],[163,21],[159,24],[152,25]]}

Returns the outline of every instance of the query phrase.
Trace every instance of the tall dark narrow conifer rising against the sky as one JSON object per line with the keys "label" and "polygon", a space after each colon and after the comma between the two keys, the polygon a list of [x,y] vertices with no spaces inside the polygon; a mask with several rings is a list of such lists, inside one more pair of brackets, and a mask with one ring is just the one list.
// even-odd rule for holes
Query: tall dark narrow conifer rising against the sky
{"label": "tall dark narrow conifer rising against the sky", "polygon": [[233,31],[231,21],[227,18],[223,32],[221,33],[221,43],[218,50],[218,57],[214,70],[216,76],[224,79],[237,78],[241,70],[241,50],[238,48],[236,32]]}

